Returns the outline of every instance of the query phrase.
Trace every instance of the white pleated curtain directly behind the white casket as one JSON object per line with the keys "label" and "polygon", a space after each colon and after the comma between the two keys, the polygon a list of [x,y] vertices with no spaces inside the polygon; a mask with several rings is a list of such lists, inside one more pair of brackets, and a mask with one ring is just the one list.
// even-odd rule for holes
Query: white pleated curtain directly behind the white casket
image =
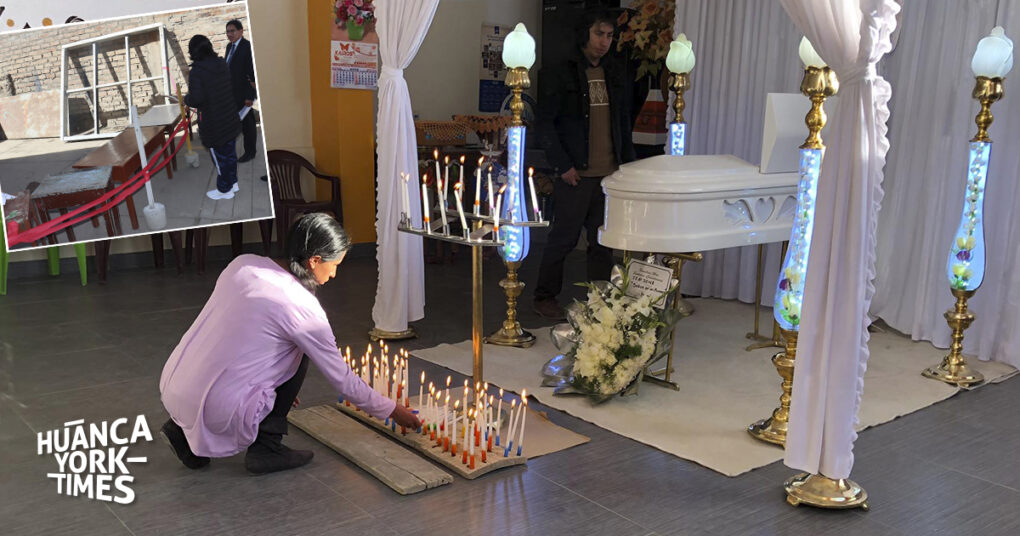
{"label": "white pleated curtain directly behind the white casket", "polygon": [[[776,2],[677,0],[675,13],[673,35],[686,34],[698,58],[684,95],[687,154],[761,163],[765,95],[800,92],[801,32]],[[779,244],[766,247],[763,304],[772,304],[779,253]],[[708,251],[702,262],[684,265],[682,291],[753,302],[757,262],[757,246]],[[750,328],[750,318],[747,323]],[[762,331],[770,325],[763,322]]]}

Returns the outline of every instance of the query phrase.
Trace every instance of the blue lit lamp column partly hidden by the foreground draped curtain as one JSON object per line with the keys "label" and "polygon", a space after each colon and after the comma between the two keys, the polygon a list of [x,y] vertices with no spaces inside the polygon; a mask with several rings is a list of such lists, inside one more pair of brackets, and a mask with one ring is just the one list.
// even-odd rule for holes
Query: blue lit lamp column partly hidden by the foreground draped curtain
{"label": "blue lit lamp column partly hidden by the foreground draped curtain", "polygon": [[801,145],[797,211],[794,213],[789,247],[779,272],[775,305],[772,309],[785,340],[784,350],[772,356],[772,363],[782,377],[782,395],[779,397],[779,407],[772,411],[772,417],[748,427],[748,433],[754,438],[777,445],[786,443],[789,397],[794,387],[794,362],[797,358],[797,334],[801,327],[801,304],[804,300],[804,279],[808,271],[808,253],[811,248],[811,232],[814,228],[818,175],[825,152],[820,136],[826,119],[822,104],[839,89],[835,74],[825,65],[807,38],[801,41],[800,55],[805,65],[801,92],[811,99],[811,110],[805,117],[808,138],[804,141],[804,145]]}

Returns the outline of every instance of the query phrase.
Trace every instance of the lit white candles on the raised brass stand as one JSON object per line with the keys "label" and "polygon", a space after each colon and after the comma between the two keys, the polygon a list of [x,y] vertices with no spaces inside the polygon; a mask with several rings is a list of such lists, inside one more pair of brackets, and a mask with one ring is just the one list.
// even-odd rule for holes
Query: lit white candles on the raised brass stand
{"label": "lit white candles on the raised brass stand", "polygon": [[[450,186],[450,157],[449,156],[445,157],[446,173],[444,175],[441,175],[440,174],[440,153],[439,153],[439,149],[437,149],[434,152],[434,156],[435,156],[435,159],[436,159],[436,191],[437,191],[437,195],[440,196],[439,205],[440,205],[440,217],[443,218],[443,233],[444,234],[450,234],[450,226],[449,226],[449,222],[447,221],[447,213],[446,213],[447,212],[447,206],[449,206],[449,203],[450,203],[450,201],[449,201],[449,191],[450,191],[449,190],[449,186]],[[480,216],[481,215],[481,164],[482,164],[483,161],[484,161],[484,157],[478,158],[478,166],[477,166],[477,168],[474,172],[474,207],[473,207],[474,210],[473,210],[473,213],[474,213],[475,216]],[[501,186],[500,189],[499,189],[499,191],[496,194],[494,194],[494,190],[493,190],[493,168],[492,168],[492,165],[489,166],[488,174],[489,174],[489,182],[488,182],[488,186],[489,186],[489,189],[488,189],[488,192],[489,192],[489,213],[493,217],[493,223],[494,223],[493,231],[494,231],[494,233],[498,233],[499,229],[500,229],[500,214],[502,213],[501,209],[503,207],[503,194],[504,194],[504,192],[507,189],[507,185]],[[411,175],[402,172],[400,174],[400,178],[401,178],[401,181],[403,182],[403,185],[402,185],[403,188],[401,189],[401,200],[402,200],[402,210],[403,210],[402,213],[405,214],[406,217],[410,217],[410,213],[411,213],[411,200],[410,200],[410,194],[407,193],[407,183],[408,183],[408,181],[410,181]],[[424,222],[425,222],[425,224],[424,224],[425,233],[431,234],[430,215],[429,215],[431,211],[428,209],[428,207],[429,207],[429,203],[428,203],[428,189],[425,187],[425,185],[426,185],[427,182],[428,182],[428,174],[425,174],[421,178],[421,207],[422,207],[422,214],[424,215]],[[542,222],[542,211],[539,210],[539,194],[538,194],[538,192],[534,189],[534,168],[533,167],[528,167],[527,168],[527,185],[528,185],[528,188],[531,190],[531,210],[534,213],[536,222]],[[454,194],[454,198],[456,200],[457,213],[460,216],[461,229],[464,229],[465,232],[466,232],[466,230],[468,229],[468,227],[467,227],[467,220],[464,216],[464,204],[463,204],[463,196],[464,196],[464,157],[463,156],[460,157],[460,181],[457,182],[457,184],[454,185],[454,187],[453,187],[453,194]],[[513,210],[511,210],[510,213],[511,213],[511,217],[513,217],[513,214],[515,212]],[[511,221],[510,223],[512,225],[515,222]]]}

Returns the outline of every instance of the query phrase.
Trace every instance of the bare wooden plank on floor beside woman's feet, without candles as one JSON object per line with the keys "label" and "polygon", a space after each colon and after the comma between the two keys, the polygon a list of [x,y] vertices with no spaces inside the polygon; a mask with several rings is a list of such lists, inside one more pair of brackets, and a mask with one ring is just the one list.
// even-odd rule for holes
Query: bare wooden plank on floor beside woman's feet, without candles
{"label": "bare wooden plank on floor beside woman's feet, without candles", "polygon": [[291,411],[288,421],[401,495],[453,482],[450,474],[328,405]]}

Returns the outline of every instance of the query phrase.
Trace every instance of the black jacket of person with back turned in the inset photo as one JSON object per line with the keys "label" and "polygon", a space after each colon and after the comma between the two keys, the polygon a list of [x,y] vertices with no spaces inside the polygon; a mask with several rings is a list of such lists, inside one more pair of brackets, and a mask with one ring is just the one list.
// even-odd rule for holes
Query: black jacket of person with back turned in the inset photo
{"label": "black jacket of person with back turned in the inset photo", "polygon": [[219,147],[241,134],[231,70],[223,58],[210,56],[192,63],[185,104],[199,111],[198,135],[202,145]]}

